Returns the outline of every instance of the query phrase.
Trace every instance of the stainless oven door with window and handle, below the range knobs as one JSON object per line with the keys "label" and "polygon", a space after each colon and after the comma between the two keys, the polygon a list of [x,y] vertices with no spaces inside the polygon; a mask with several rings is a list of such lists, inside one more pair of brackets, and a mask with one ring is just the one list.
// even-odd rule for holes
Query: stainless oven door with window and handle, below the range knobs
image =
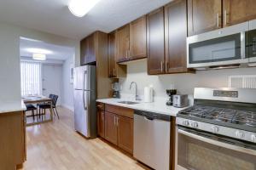
{"label": "stainless oven door with window and handle, below the range knobs", "polygon": [[178,127],[177,170],[256,170],[256,146]]}

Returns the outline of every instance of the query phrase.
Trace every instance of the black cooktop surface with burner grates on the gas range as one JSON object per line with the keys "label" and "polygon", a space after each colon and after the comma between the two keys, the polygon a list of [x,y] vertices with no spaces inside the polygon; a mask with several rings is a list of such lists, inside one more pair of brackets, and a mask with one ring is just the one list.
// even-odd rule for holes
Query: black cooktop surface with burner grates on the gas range
{"label": "black cooktop surface with burner grates on the gas range", "polygon": [[177,116],[199,122],[209,122],[256,132],[256,112],[253,111],[239,111],[215,106],[194,105],[184,111],[180,111]]}

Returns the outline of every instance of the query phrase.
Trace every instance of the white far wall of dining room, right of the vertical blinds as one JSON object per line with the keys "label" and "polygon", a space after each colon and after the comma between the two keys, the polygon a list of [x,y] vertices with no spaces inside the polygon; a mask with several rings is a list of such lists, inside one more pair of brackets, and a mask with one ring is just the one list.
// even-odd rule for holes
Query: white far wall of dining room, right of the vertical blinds
{"label": "white far wall of dining room, right of the vertical blinds", "polygon": [[56,105],[61,105],[62,65],[42,64],[42,85],[42,88],[45,88],[44,96],[49,96],[49,94],[58,95]]}

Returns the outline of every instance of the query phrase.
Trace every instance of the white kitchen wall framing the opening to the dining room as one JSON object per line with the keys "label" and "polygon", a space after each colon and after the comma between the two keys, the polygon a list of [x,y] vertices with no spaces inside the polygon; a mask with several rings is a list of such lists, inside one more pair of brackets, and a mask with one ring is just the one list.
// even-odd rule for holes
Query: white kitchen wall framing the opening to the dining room
{"label": "white kitchen wall framing the opening to the dining room", "polygon": [[75,47],[75,64],[79,65],[79,40],[0,22],[0,102],[20,100],[20,37]]}

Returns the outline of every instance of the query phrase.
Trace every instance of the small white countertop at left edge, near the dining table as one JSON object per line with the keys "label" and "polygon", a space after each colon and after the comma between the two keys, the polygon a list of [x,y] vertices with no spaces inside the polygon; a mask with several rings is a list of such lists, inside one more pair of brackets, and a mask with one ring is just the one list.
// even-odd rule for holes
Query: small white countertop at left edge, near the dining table
{"label": "small white countertop at left edge, near the dining table", "polygon": [[0,101],[0,114],[15,111],[26,111],[26,105],[20,101]]}

